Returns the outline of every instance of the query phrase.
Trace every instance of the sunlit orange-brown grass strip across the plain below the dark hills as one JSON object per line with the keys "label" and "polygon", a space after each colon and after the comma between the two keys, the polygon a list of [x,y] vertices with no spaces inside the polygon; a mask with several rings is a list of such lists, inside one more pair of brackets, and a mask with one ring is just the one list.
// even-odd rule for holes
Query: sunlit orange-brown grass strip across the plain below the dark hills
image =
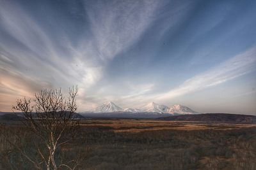
{"label": "sunlit orange-brown grass strip across the plain below the dark hills", "polygon": [[113,129],[114,132],[144,132],[144,131],[198,131],[198,130],[233,130],[247,127],[256,127],[256,124],[225,124],[164,120],[135,120],[135,119],[107,119],[83,120],[83,127],[102,127]]}

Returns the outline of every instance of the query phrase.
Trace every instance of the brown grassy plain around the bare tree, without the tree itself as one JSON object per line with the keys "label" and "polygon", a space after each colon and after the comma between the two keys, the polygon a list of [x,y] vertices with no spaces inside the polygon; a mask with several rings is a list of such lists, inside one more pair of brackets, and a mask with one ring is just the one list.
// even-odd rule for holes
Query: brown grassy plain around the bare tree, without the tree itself
{"label": "brown grassy plain around the bare tree, without the tree itself", "polygon": [[[6,133],[24,149],[19,125]],[[1,141],[0,169],[31,169],[19,152]],[[256,169],[256,125],[163,120],[82,120],[77,138],[61,148],[66,157],[81,151],[78,169]],[[31,152],[33,154],[33,152]]]}

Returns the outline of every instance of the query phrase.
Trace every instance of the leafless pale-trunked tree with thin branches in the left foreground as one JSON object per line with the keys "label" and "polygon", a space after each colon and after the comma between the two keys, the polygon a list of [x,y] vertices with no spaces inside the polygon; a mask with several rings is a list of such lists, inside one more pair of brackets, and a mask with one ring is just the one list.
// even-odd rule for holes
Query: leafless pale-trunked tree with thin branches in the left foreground
{"label": "leafless pale-trunked tree with thin branches in the left foreground", "polygon": [[19,146],[13,146],[36,169],[76,169],[81,162],[82,157],[67,162],[63,162],[61,158],[61,146],[70,143],[79,129],[79,119],[75,113],[77,92],[77,87],[72,87],[68,97],[64,97],[61,89],[45,89],[36,93],[33,101],[19,99],[16,106],[13,106],[14,110],[24,114],[24,126],[37,138],[33,145],[38,157],[31,157],[31,154],[24,152]]}

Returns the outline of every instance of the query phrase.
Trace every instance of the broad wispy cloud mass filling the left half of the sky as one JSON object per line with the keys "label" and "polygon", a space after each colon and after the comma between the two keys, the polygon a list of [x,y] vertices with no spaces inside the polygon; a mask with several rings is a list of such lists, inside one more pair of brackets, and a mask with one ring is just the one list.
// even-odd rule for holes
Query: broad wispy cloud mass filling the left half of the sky
{"label": "broad wispy cloud mass filling the left half of the sky", "polygon": [[[79,13],[88,18],[86,24],[80,24],[84,30],[77,32],[81,35],[78,38],[70,39],[61,25],[52,24],[52,31],[58,30],[52,34],[48,25],[19,3],[1,1],[0,34],[7,40],[0,41],[2,89],[31,96],[38,89],[77,84],[83,96],[102,78],[108,62],[140,39],[163,6],[163,1],[87,2],[86,12]],[[60,23],[54,18],[56,12],[50,10],[46,15],[52,15],[56,23],[73,24],[72,20]],[[3,76],[6,71],[8,76]],[[2,99],[6,92],[0,94]]]}

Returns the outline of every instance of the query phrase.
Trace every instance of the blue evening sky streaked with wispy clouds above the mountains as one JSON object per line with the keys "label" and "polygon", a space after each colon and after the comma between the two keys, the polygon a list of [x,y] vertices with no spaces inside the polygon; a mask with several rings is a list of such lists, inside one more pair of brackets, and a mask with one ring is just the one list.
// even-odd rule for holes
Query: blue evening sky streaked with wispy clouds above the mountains
{"label": "blue evening sky streaked with wispy clouds above the mountains", "polygon": [[77,85],[78,111],[256,115],[255,28],[253,0],[0,0],[0,111]]}

